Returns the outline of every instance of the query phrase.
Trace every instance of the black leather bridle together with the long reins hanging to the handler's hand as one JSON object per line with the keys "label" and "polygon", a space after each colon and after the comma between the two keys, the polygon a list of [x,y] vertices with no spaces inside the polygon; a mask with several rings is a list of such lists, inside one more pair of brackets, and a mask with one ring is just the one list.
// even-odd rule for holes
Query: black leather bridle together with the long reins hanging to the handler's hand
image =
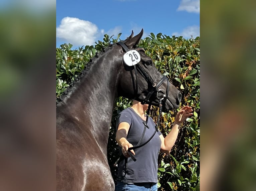
{"label": "black leather bridle together with the long reins hanging to the handler's hand", "polygon": [[[123,43],[123,42],[118,42],[117,44],[121,45],[124,52],[128,52],[129,49],[128,47]],[[138,48],[136,49],[136,51],[143,51],[145,52],[144,49],[142,48]],[[143,122],[144,124],[144,130],[143,130],[143,133],[142,133],[142,136],[138,142],[138,144],[136,146],[133,146],[133,147],[130,147],[128,149],[128,154],[131,156],[132,160],[133,161],[136,161],[136,158],[134,157],[134,155],[131,153],[131,150],[133,149],[137,149],[137,148],[140,148],[142,146],[144,146],[145,144],[147,144],[152,138],[153,136],[155,135],[156,132],[158,132],[158,124],[159,124],[159,118],[160,118],[160,115],[162,113],[162,103],[165,103],[167,97],[168,97],[168,91],[169,91],[169,87],[168,87],[168,79],[166,76],[163,76],[161,78],[161,80],[158,82],[158,83],[154,83],[154,80],[151,78],[150,75],[148,75],[146,73],[146,71],[139,65],[139,64],[136,64],[134,65],[134,73],[135,73],[135,80],[134,80],[134,77],[133,77],[133,73],[132,73],[132,70],[130,71],[131,72],[131,76],[132,76],[132,79],[133,79],[133,89],[134,89],[134,93],[135,93],[135,98],[137,97],[137,94],[138,94],[138,82],[137,82],[137,79],[138,79],[138,72],[140,73],[140,75],[147,81],[147,83],[150,85],[151,89],[149,90],[148,94],[146,95],[145,99],[141,101],[142,104],[149,104],[148,105],[148,110],[147,110],[147,115],[146,115],[146,122]],[[161,86],[161,84],[164,82],[164,81],[167,81],[167,87],[166,87],[166,94],[164,92],[164,90],[162,89],[159,89],[159,87]],[[134,82],[135,81],[135,82]],[[158,114],[158,118],[157,118],[157,123],[155,125],[155,131],[154,133],[151,135],[151,137],[146,141],[144,142],[143,144],[140,144],[141,143],[141,140],[142,138],[144,137],[144,134],[145,134],[145,131],[146,131],[146,128],[149,128],[149,126],[147,125],[147,122],[148,122],[148,116],[149,116],[149,112],[150,112],[150,108],[151,108],[151,105],[152,105],[152,102],[150,101],[150,98],[151,96],[156,93],[156,97],[158,99],[158,106],[159,106],[159,114]],[[163,96],[160,97],[158,94],[159,93],[162,93]],[[118,159],[117,161],[115,162],[114,166],[117,166],[121,160],[125,159],[125,168],[127,167],[127,158],[122,154]],[[125,172],[126,174],[126,172]],[[124,178],[125,175],[122,177]]]}

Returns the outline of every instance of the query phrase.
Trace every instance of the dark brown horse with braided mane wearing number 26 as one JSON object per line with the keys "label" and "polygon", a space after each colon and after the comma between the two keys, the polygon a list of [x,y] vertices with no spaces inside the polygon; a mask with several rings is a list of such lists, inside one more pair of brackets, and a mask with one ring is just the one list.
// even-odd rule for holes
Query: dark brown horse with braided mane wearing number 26
{"label": "dark brown horse with braided mane wearing number 26", "polygon": [[[138,49],[143,29],[133,34],[100,52],[73,91],[56,107],[57,191],[115,190],[107,143],[118,96],[157,105],[157,97],[166,95],[163,111],[179,107],[179,90],[165,80],[144,50]],[[140,67],[137,72],[135,66]],[[160,90],[151,91],[156,87]]]}

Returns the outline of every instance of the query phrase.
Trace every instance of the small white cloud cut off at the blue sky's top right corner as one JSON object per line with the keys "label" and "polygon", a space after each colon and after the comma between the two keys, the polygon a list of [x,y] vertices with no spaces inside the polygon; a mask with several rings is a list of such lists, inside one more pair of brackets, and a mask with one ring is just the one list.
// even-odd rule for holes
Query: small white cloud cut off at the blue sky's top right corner
{"label": "small white cloud cut off at the blue sky's top right corner", "polygon": [[177,11],[200,13],[200,0],[181,0]]}

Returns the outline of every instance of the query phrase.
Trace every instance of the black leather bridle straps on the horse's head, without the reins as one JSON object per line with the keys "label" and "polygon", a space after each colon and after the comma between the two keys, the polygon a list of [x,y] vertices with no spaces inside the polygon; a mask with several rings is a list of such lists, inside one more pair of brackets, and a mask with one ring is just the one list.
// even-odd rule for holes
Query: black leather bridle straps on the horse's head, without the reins
{"label": "black leather bridle straps on the horse's head, without the reins", "polygon": [[[124,52],[128,52],[129,49],[128,47],[123,43],[123,42],[118,42],[117,44],[121,45]],[[142,48],[138,48],[136,49],[136,51],[143,51],[145,52],[144,49]],[[149,90],[148,94],[146,95],[145,99],[141,101],[142,104],[145,104],[145,103],[148,103],[148,104],[151,104],[150,102],[150,97],[156,93],[156,97],[158,99],[158,104],[161,104],[161,103],[165,103],[167,97],[168,97],[168,88],[169,88],[169,85],[168,85],[168,79],[166,76],[163,76],[162,79],[158,82],[158,83],[155,83],[154,80],[151,78],[151,76],[149,76],[146,71],[139,65],[139,64],[136,64],[134,65],[134,73],[135,73],[135,83],[136,83],[136,86],[134,84],[134,80],[133,80],[133,90],[134,90],[134,93],[135,93],[135,98],[137,97],[138,95],[138,72],[141,74],[141,76],[147,81],[147,83],[150,85],[151,89]],[[132,76],[132,79],[134,79],[133,77],[133,74],[132,74],[132,71],[131,72],[131,76]],[[166,87],[166,92],[164,92],[164,90],[162,89],[158,89],[161,84],[164,82],[164,81],[167,81],[167,87]],[[160,98],[158,96],[159,93],[162,93],[163,94],[163,97]],[[165,94],[166,93],[166,94]],[[161,101],[160,101],[161,100]],[[160,103],[161,102],[161,103]]]}

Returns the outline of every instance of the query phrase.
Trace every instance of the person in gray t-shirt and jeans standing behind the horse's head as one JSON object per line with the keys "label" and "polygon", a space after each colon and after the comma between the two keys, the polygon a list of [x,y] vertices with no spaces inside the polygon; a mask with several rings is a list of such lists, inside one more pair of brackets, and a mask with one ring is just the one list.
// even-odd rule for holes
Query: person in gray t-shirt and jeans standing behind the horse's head
{"label": "person in gray t-shirt and jeans standing behind the horse's head", "polygon": [[[153,138],[144,146],[137,148],[131,153],[136,158],[132,160],[128,154],[128,148],[137,146],[139,140],[146,142],[155,132],[155,123],[151,117],[148,118],[144,136],[144,123],[146,122],[145,111],[148,104],[141,104],[134,100],[133,105],[124,109],[117,118],[116,141],[120,151],[125,156],[118,165],[118,180],[115,191],[157,191],[157,159],[159,151],[169,153],[174,145],[180,124],[193,113],[189,106],[182,107],[176,114],[171,131],[164,138],[158,130]],[[144,123],[143,123],[144,122]],[[141,138],[142,137],[142,138]]]}

